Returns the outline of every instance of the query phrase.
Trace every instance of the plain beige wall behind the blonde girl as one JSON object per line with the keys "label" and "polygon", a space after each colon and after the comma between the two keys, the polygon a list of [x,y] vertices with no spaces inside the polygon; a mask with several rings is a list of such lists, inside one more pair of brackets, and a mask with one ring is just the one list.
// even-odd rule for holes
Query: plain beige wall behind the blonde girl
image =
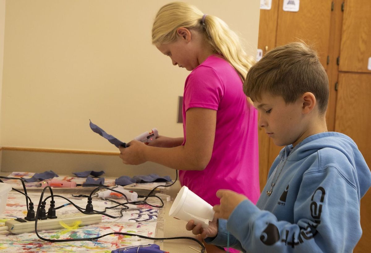
{"label": "plain beige wall behind the blonde girl", "polygon": [[[0,146],[117,151],[89,119],[122,141],[154,127],[182,136],[177,101],[189,72],[151,45],[168,2],[6,1]],[[226,21],[256,55],[258,0],[189,2]]]}

